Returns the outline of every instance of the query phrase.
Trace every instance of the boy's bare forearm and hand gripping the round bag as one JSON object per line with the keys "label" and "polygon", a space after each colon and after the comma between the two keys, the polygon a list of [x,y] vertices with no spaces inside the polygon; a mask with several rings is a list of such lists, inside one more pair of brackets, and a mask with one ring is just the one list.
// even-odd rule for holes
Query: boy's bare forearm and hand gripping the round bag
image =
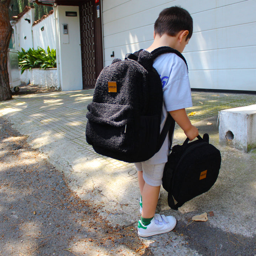
{"label": "boy's bare forearm and hand gripping the round bag", "polygon": [[190,140],[193,140],[198,136],[198,129],[191,124],[185,108],[169,111],[169,113]]}

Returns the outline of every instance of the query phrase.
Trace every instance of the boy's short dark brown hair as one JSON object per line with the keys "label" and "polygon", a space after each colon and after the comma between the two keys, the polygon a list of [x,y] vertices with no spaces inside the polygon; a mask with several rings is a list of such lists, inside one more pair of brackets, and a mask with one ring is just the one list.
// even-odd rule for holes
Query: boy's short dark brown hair
{"label": "boy's short dark brown hair", "polygon": [[180,6],[172,6],[162,10],[155,21],[155,34],[176,36],[182,30],[188,30],[187,39],[192,37],[193,19],[189,12]]}

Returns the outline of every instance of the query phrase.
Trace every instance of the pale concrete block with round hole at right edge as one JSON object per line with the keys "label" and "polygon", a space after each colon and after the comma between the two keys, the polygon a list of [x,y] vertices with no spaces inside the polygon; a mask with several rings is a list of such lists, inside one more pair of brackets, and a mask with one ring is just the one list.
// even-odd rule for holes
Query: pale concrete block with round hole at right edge
{"label": "pale concrete block with round hole at right edge", "polygon": [[256,105],[220,111],[219,142],[245,152],[256,148]]}

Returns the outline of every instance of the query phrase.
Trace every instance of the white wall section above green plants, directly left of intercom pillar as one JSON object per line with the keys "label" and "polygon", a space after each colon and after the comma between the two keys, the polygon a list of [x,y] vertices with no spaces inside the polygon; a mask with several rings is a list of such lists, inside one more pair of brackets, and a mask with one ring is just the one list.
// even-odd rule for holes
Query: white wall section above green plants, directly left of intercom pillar
{"label": "white wall section above green plants, directly left of intercom pillar", "polygon": [[[44,27],[42,31],[41,28]],[[34,48],[41,47],[47,50],[49,46],[50,49],[56,49],[56,35],[55,35],[55,25],[54,25],[54,14],[50,14],[44,18],[39,23],[32,27],[33,31],[33,42]]]}

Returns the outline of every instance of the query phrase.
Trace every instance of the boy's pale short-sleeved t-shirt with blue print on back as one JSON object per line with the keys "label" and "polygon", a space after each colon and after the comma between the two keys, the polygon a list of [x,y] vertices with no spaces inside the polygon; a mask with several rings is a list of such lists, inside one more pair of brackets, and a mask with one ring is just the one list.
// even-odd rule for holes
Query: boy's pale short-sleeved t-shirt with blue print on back
{"label": "boy's pale short-sleeved t-shirt with blue print on back", "polygon": [[[192,107],[190,82],[187,66],[175,53],[165,53],[154,60],[154,68],[158,71],[162,81],[164,102],[162,107],[161,130],[169,111]],[[169,136],[161,149],[149,160],[147,164],[161,164],[167,162],[169,154]]]}

